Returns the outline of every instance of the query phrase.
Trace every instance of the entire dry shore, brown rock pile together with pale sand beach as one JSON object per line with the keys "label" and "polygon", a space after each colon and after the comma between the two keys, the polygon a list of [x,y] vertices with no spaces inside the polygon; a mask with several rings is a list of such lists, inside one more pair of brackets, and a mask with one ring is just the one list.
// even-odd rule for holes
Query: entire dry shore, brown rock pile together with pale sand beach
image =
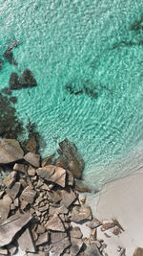
{"label": "entire dry shore, brown rock pile together with pale sand beach", "polygon": [[17,256],[43,250],[43,256],[89,256],[89,249],[98,256],[136,256],[137,247],[143,250],[143,168],[92,194],[81,179],[84,160],[68,139],[59,143],[58,158],[54,153],[43,160],[33,137],[25,149],[11,139],[0,143],[1,168],[10,167],[0,191],[0,253],[8,255],[9,245],[17,243]]}

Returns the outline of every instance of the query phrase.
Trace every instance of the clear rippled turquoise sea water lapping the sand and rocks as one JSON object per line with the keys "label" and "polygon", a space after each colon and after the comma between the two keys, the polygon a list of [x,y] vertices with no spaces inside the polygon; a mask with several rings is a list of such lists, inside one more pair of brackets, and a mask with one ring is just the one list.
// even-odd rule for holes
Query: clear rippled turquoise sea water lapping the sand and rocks
{"label": "clear rippled turquoise sea water lapping the sand and rocks", "polygon": [[[19,118],[36,123],[43,156],[72,140],[92,187],[143,165],[143,24],[131,30],[142,13],[139,0],[1,0],[0,58],[11,40],[20,45],[18,67],[5,63],[0,87],[12,71],[31,69],[38,86],[12,92]],[[66,84],[98,97],[70,94]]]}

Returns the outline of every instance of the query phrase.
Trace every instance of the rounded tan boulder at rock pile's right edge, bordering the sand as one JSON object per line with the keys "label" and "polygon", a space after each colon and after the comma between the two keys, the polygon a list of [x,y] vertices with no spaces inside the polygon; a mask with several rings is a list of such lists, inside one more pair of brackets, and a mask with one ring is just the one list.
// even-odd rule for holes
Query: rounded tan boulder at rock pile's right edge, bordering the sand
{"label": "rounded tan boulder at rock pile's right edge, bordering the sand", "polygon": [[72,217],[71,221],[73,222],[81,222],[81,221],[91,221],[92,220],[92,211],[91,207],[88,205],[83,206],[75,206],[72,209]]}

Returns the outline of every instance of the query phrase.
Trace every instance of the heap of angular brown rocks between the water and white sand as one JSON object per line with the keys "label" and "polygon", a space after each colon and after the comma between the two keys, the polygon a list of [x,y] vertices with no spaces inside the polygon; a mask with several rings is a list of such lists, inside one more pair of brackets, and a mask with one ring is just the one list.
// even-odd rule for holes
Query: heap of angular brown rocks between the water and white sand
{"label": "heap of angular brown rocks between the water and white sand", "polygon": [[[105,231],[116,223],[93,219],[86,198],[75,191],[75,170],[81,176],[84,167],[75,146],[66,139],[57,159],[53,154],[42,161],[35,152],[24,153],[15,140],[1,139],[0,144],[1,165],[11,168],[0,191],[0,255],[13,255],[17,247],[28,256],[105,255],[97,228]],[[76,226],[87,221],[90,239]]]}

